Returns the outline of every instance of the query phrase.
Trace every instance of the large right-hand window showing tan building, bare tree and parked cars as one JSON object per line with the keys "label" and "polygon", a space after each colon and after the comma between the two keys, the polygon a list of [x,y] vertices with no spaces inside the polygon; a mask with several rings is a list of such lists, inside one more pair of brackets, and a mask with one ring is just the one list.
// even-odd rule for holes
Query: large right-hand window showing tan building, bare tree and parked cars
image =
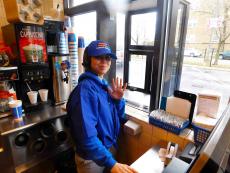
{"label": "large right-hand window showing tan building, bare tree and parked cars", "polygon": [[[230,22],[229,0],[189,0],[190,21],[197,26],[188,28],[186,35],[180,90],[199,95],[216,97],[215,104],[220,116],[230,98]],[[193,8],[196,7],[196,8]],[[193,79],[193,80],[191,80]],[[207,99],[207,104],[214,101]],[[199,105],[199,97],[197,98]],[[202,110],[210,116],[210,106]],[[199,112],[199,111],[198,111]]]}

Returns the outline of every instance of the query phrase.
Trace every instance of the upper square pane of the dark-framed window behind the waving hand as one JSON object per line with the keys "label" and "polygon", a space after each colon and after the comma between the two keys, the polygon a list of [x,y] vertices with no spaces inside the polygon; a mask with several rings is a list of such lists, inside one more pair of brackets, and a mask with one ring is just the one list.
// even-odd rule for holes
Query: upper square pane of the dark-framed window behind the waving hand
{"label": "upper square pane of the dark-framed window behind the waving hand", "polygon": [[156,12],[131,16],[131,45],[154,45]]}

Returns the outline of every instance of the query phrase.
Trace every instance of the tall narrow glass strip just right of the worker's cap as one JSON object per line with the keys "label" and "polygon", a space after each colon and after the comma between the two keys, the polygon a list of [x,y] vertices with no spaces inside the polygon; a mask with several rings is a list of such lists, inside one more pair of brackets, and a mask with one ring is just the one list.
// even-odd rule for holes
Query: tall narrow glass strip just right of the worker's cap
{"label": "tall narrow glass strip just right of the worker's cap", "polygon": [[125,38],[125,14],[117,13],[116,76],[121,79],[123,79],[123,72],[124,72],[124,38]]}

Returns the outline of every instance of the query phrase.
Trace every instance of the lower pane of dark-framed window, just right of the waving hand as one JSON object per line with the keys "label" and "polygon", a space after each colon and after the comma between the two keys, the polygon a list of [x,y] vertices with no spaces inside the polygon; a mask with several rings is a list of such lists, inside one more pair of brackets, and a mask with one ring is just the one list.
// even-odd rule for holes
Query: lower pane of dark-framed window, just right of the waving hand
{"label": "lower pane of dark-framed window, just right of the waving hand", "polygon": [[144,89],[146,55],[131,55],[129,61],[129,86]]}

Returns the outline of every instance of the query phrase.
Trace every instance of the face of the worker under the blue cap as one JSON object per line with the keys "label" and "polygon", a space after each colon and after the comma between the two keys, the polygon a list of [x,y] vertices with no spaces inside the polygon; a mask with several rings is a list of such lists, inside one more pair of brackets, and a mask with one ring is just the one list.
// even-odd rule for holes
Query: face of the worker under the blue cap
{"label": "face of the worker under the blue cap", "polygon": [[98,57],[91,57],[91,70],[98,74],[99,76],[103,77],[110,68],[111,65],[111,58],[109,56],[98,56]]}

